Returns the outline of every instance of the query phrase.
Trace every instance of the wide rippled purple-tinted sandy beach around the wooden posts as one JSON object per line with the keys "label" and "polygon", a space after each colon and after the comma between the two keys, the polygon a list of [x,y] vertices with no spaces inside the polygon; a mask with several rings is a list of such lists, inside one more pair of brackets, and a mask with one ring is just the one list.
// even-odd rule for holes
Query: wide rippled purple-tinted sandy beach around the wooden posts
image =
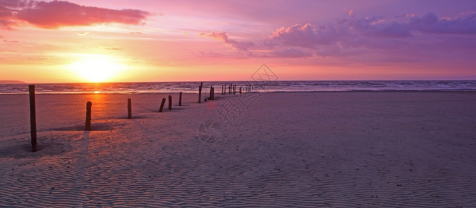
{"label": "wide rippled purple-tinted sandy beach around the wooden posts", "polygon": [[1,95],[0,207],[476,207],[476,93],[165,96]]}

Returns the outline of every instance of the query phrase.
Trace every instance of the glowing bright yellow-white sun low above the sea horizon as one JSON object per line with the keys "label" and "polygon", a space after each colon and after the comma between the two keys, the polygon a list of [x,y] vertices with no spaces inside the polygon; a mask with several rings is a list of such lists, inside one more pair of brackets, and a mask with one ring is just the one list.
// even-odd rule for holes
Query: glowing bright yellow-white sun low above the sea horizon
{"label": "glowing bright yellow-white sun low above the sea horizon", "polygon": [[108,55],[78,55],[67,68],[89,83],[104,83],[119,76],[127,66]]}

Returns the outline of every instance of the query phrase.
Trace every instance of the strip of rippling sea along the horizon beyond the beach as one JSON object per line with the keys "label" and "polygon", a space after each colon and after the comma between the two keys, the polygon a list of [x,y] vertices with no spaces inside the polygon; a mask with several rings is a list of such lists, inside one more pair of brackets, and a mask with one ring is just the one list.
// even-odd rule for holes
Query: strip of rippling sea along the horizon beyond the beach
{"label": "strip of rippling sea along the horizon beyond the beach", "polygon": [[[476,92],[476,80],[354,80],[354,81],[210,81],[203,82],[203,92],[214,86],[251,84],[255,92],[336,92],[336,91],[467,91]],[[198,93],[200,82],[160,83],[65,83],[35,84],[37,94],[154,94]],[[0,94],[28,94],[26,84],[0,85]]]}

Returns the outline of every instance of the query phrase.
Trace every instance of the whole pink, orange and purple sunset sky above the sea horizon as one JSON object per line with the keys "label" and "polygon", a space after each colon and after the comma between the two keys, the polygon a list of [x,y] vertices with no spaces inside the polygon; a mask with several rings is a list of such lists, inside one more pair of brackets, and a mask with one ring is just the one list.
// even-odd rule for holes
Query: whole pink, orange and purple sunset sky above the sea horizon
{"label": "whole pink, orange and purple sunset sky above the sea horizon", "polygon": [[476,79],[476,1],[0,0],[0,80]]}

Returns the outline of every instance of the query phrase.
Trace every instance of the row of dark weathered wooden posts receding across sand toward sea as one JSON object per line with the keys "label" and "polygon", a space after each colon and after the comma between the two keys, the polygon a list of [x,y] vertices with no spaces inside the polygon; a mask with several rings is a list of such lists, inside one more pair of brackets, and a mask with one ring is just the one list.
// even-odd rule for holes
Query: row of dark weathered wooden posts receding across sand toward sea
{"label": "row of dark weathered wooden posts receding across sand toward sea", "polygon": [[[221,85],[221,94],[226,94],[226,87],[227,85]],[[202,88],[203,82],[200,83],[200,87],[198,87],[198,103],[201,103],[202,100]],[[228,85],[228,94],[236,94],[237,93],[237,85]],[[253,87],[250,84],[247,84],[245,87],[239,87],[239,93],[246,93],[250,92]],[[30,126],[31,126],[31,150],[32,152],[37,151],[37,135],[36,135],[36,107],[35,107],[35,85],[28,85],[29,95],[30,95]],[[210,86],[210,95],[208,96],[208,100],[213,101],[215,99],[215,90],[213,85]],[[162,103],[160,103],[159,112],[162,112],[165,105],[165,98],[162,98]],[[205,102],[207,99],[205,99]],[[180,92],[178,98],[178,106],[182,106],[182,92]],[[87,101],[86,103],[86,121],[85,121],[85,131],[91,130],[91,107],[92,102]],[[169,95],[169,110],[172,110],[172,96]],[[127,100],[127,119],[132,119],[132,101],[130,98]]]}

